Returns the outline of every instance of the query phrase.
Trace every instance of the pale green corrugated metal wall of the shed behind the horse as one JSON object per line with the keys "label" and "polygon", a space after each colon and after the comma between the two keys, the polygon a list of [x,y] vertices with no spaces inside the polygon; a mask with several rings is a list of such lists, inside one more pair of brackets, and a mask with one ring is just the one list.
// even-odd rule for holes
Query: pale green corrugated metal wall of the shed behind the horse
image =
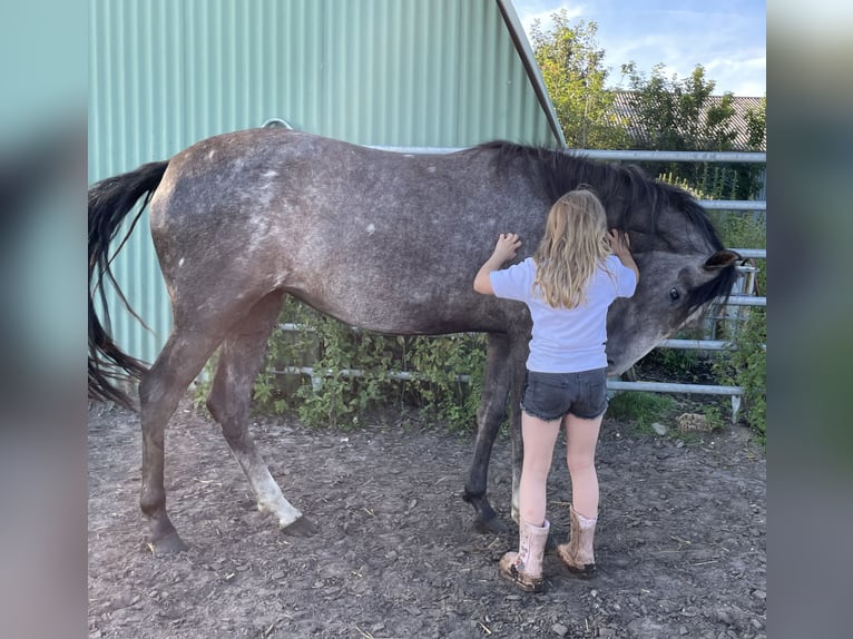
{"label": "pale green corrugated metal wall of the shed behind the horse", "polygon": [[[89,179],[268,118],[375,146],[555,145],[497,0],[90,0]],[[151,361],[170,326],[147,218],[115,263],[153,328],[110,297]]]}

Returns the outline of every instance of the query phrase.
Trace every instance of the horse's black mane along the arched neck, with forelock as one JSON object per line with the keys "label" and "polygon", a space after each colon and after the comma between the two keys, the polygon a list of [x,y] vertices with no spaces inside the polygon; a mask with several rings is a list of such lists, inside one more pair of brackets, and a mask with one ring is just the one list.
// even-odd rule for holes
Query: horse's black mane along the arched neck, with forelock
{"label": "horse's black mane along the arched neck, with forelock", "polygon": [[[658,235],[658,222],[665,209],[682,212],[696,230],[705,237],[714,250],[722,250],[707,212],[683,188],[650,178],[636,165],[612,165],[592,161],[580,154],[560,149],[526,146],[506,140],[483,142],[477,147],[494,153],[499,170],[519,168],[537,180],[548,199],[556,201],[565,193],[587,184],[592,187],[618,228],[631,223],[644,224],[648,232]],[[650,212],[648,220],[631,219],[638,207],[630,203],[645,201]],[[690,309],[706,302],[727,298],[737,277],[734,266],[720,269],[717,277],[692,289],[688,296]]]}

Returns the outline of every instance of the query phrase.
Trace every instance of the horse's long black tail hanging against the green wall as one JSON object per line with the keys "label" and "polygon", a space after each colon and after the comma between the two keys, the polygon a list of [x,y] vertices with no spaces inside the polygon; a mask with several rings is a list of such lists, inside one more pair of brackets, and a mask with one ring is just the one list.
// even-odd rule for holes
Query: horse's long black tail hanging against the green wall
{"label": "horse's long black tail hanging against the green wall", "polygon": [[[89,397],[109,400],[128,409],[134,409],[134,402],[121,385],[133,380],[138,381],[148,367],[121,351],[112,341],[104,281],[110,283],[125,307],[141,322],[121,293],[110,264],[136,227],[168,164],[168,160],[146,164],[89,188]],[[128,230],[110,254],[109,247],[121,223],[140,198],[144,199]],[[102,323],[95,309],[96,296],[101,303]]]}

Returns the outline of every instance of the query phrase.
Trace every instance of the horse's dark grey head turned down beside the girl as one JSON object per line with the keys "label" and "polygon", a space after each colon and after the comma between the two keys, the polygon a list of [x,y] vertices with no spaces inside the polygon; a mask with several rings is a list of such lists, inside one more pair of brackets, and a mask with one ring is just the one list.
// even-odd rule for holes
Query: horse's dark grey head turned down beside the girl
{"label": "horse's dark grey head turned down beside the girl", "polygon": [[637,252],[640,278],[630,298],[619,298],[607,315],[609,375],[625,372],[678,327],[725,298],[737,277],[732,250]]}

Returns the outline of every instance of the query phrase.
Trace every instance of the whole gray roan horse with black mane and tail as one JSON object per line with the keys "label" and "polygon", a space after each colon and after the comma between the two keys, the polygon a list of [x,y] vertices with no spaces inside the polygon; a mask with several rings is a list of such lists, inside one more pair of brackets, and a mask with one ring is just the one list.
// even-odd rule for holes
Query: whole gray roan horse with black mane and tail
{"label": "whole gray roan horse with black mane and tail", "polygon": [[[386,334],[488,333],[484,391],[464,499],[477,527],[502,530],[486,494],[492,443],[510,406],[513,515],[521,459],[519,399],[530,331],[519,303],[478,295],[473,276],[500,233],[529,256],[547,212],[590,185],[611,227],[630,235],[640,269],[631,299],[608,315],[609,372],[618,374],[690,316],[727,296],[738,255],[725,250],[684,190],[570,154],[489,142],[453,154],[403,155],[282,129],[205,139],[89,189],[89,394],[131,402],[139,380],[140,505],[155,550],[183,548],[166,512],[164,439],[178,401],[219,347],[207,406],[257,497],[290,533],[315,530],[271,476],[248,432],[249,395],[285,295],[347,324]],[[174,327],[147,370],[122,353],[95,302],[110,242],[136,203],[151,235]],[[115,281],[112,281],[115,285]]]}

